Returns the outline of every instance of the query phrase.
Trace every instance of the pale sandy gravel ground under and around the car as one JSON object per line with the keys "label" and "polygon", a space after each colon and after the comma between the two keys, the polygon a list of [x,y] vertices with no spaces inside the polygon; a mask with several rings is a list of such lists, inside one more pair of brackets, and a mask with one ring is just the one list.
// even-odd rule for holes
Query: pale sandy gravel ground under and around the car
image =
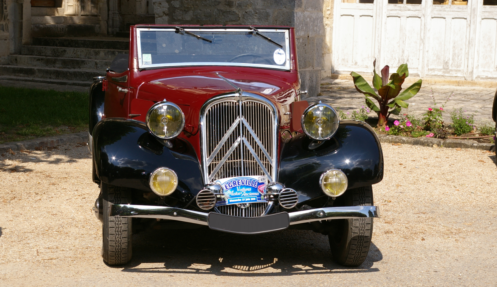
{"label": "pale sandy gravel ground under and around the car", "polygon": [[210,229],[135,234],[133,260],[100,257],[86,147],[0,156],[0,286],[497,286],[496,156],[383,144],[366,262],[332,262],[326,236]]}

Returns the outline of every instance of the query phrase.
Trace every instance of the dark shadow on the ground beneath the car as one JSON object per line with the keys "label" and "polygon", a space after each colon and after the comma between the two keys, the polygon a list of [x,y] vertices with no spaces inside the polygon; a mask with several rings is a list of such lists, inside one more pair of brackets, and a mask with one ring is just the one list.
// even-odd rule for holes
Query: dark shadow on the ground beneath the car
{"label": "dark shadow on the ground beneath the car", "polygon": [[[377,272],[383,259],[371,245],[359,267],[343,267],[331,258],[328,236],[308,230],[238,235],[208,228],[154,230],[133,237],[133,259],[118,268],[132,273],[288,276],[315,273]],[[150,267],[159,263],[160,267]],[[117,266],[116,266],[117,267]]]}

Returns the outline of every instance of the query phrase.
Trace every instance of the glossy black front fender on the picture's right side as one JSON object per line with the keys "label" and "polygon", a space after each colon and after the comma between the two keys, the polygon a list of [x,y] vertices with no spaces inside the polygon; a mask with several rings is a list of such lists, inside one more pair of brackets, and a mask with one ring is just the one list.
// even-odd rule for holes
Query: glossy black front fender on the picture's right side
{"label": "glossy black front fender on the picture's right side", "polygon": [[314,149],[311,149],[312,143],[304,134],[294,137],[283,146],[280,157],[278,181],[295,189],[299,202],[324,195],[319,179],[331,168],[338,168],[347,175],[347,189],[372,185],[383,179],[381,145],[366,123],[340,121],[333,138]]}

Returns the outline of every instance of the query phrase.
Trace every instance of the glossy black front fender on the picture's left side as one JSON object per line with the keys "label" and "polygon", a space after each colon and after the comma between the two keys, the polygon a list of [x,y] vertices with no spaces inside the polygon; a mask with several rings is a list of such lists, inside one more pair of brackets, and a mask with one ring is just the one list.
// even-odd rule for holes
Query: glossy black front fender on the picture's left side
{"label": "glossy black front fender on the picture's left side", "polygon": [[178,176],[178,187],[171,196],[189,201],[203,186],[200,165],[190,144],[179,139],[171,142],[172,148],[166,147],[143,122],[104,119],[93,129],[96,176],[111,185],[150,192],[150,174],[168,167]]}

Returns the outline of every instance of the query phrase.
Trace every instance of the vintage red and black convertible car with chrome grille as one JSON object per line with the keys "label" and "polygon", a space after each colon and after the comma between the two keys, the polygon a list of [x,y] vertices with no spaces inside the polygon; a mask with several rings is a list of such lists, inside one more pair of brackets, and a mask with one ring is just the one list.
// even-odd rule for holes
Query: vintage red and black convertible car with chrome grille
{"label": "vintage red and black convertible car with chrome grille", "polygon": [[163,224],[314,230],[335,261],[360,265],[381,146],[369,125],[305,93],[294,28],[132,26],[129,54],[90,90],[105,262],[127,263],[132,233]]}

